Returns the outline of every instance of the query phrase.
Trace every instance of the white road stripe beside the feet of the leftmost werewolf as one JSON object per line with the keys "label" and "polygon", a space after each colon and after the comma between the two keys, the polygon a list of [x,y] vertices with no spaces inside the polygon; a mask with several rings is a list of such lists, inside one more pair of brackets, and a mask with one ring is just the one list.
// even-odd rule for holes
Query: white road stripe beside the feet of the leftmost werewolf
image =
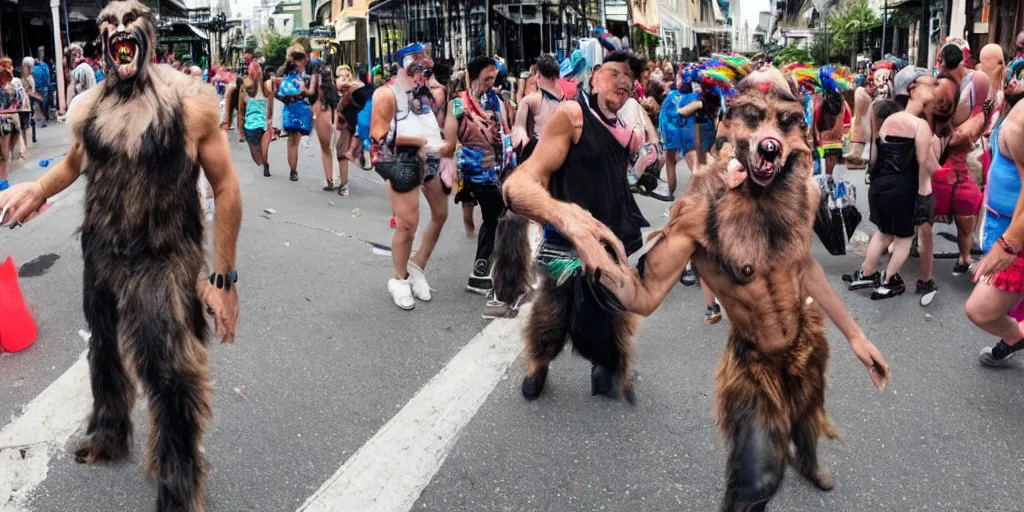
{"label": "white road stripe beside the feet of the leftmost werewolf", "polygon": [[63,454],[68,439],[88,417],[92,389],[86,353],[0,430],[0,510],[31,510],[28,502],[46,479],[50,460]]}

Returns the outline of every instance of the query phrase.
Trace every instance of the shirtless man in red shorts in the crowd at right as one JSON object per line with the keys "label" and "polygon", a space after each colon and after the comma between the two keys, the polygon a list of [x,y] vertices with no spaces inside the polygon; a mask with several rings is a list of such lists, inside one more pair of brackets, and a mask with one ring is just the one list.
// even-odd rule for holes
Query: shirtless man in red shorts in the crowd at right
{"label": "shirtless man in red shorts in the crowd at right", "polygon": [[981,190],[967,166],[967,155],[985,132],[992,102],[987,99],[988,77],[965,66],[970,58],[966,44],[946,43],[939,53],[934,122],[936,135],[943,139],[943,152],[939,158],[942,167],[932,179],[935,217],[955,218],[959,258],[953,265],[953,275],[961,275],[971,265],[971,245],[982,203]]}

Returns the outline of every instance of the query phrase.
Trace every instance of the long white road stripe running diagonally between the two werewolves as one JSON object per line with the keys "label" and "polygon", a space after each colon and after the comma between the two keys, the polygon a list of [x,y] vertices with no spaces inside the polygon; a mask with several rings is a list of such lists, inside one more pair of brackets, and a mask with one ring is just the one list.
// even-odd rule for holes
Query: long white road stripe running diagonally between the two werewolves
{"label": "long white road stripe running diagonally between the two werewolves", "polygon": [[529,308],[480,331],[298,511],[410,510],[522,351]]}

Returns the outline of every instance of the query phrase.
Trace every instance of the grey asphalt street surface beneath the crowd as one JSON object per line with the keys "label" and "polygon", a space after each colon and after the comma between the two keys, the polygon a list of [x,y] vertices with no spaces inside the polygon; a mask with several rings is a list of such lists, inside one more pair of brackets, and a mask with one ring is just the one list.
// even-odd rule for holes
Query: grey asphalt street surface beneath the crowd
{"label": "grey asphalt street surface beneath the crowd", "polygon": [[[12,181],[41,174],[38,160],[63,152],[65,130],[42,130],[42,143]],[[380,178],[353,167],[350,197],[322,191],[318,156],[303,150],[302,179],[290,182],[281,141],[271,146],[275,175],[266,179],[233,138],[232,132],[245,212],[238,258],[242,322],[237,344],[210,345],[216,418],[204,442],[212,464],[208,510],[292,511],[357,454],[371,464],[400,465],[391,459],[401,452],[381,449],[375,435],[392,430],[421,399],[421,389],[443,381],[450,361],[455,365],[474,337],[492,339],[492,328],[480,318],[483,299],[464,291],[475,241],[466,239],[460,209],[452,208],[427,268],[434,300],[403,312],[385,291],[390,259],[369,244],[390,245]],[[861,173],[849,174],[854,184],[863,182]],[[866,217],[866,186],[859,188]],[[5,431],[28,421],[27,411],[46,407],[33,401],[37,396],[83,388],[82,376],[76,381],[69,370],[86,348],[75,232],[83,190],[80,180],[41,217],[0,231],[0,257],[11,255],[19,265],[43,257],[25,272],[35,275],[20,280],[39,341],[0,354]],[[652,224],[664,223],[664,203],[638,201]],[[276,213],[264,214],[265,208]],[[866,220],[862,229],[872,230]],[[836,285],[860,262],[819,246],[815,255]],[[873,302],[866,291],[840,291],[888,358],[893,381],[876,391],[830,330],[826,408],[847,446],[822,442],[820,453],[837,485],[821,493],[791,471],[772,510],[1024,508],[1017,492],[1024,470],[1024,449],[1016,442],[1024,408],[1021,369],[978,365],[978,351],[993,340],[964,315],[971,284],[952,278],[951,264],[938,262],[940,292],[928,308],[912,293]],[[916,272],[911,259],[904,280],[913,283]],[[483,390],[479,409],[471,408],[465,425],[447,433],[436,466],[407,489],[409,506],[399,509],[715,510],[725,453],[711,394],[727,326],[705,326],[702,313],[698,289],[677,287],[646,321],[635,359],[636,407],[590,396],[589,365],[568,351],[552,366],[542,398],[526,402],[519,393],[521,358],[510,359],[488,384],[493,391]],[[516,332],[523,317],[502,321],[510,323],[503,329]],[[84,417],[67,411],[50,411],[53,421],[83,429]],[[16,455],[0,458],[0,510],[152,510],[155,487],[139,468],[148,429],[144,404],[134,418],[133,453],[124,464],[76,464],[70,456],[75,435],[20,446],[47,452],[41,475]],[[0,453],[18,449],[0,434]],[[351,507],[339,502],[325,510]],[[373,509],[380,507],[365,508]]]}

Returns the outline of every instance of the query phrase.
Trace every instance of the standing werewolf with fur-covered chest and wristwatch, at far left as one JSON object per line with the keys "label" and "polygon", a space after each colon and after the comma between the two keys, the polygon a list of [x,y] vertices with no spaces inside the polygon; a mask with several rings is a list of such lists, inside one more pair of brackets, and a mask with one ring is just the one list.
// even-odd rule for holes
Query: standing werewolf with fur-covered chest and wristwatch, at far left
{"label": "standing werewolf with fur-covered chest and wristwatch, at far left", "polygon": [[[202,511],[207,468],[200,441],[212,394],[204,302],[222,342],[233,341],[239,183],[214,89],[153,63],[150,9],[135,0],[111,2],[98,24],[106,79],[72,103],[67,158],[38,181],[0,194],[0,209],[23,221],[86,175],[83,305],[94,401],[76,458],[99,464],[128,456],[141,381],[151,424],[144,468],[157,483],[157,510]],[[217,208],[209,284],[200,276],[201,167]]]}

